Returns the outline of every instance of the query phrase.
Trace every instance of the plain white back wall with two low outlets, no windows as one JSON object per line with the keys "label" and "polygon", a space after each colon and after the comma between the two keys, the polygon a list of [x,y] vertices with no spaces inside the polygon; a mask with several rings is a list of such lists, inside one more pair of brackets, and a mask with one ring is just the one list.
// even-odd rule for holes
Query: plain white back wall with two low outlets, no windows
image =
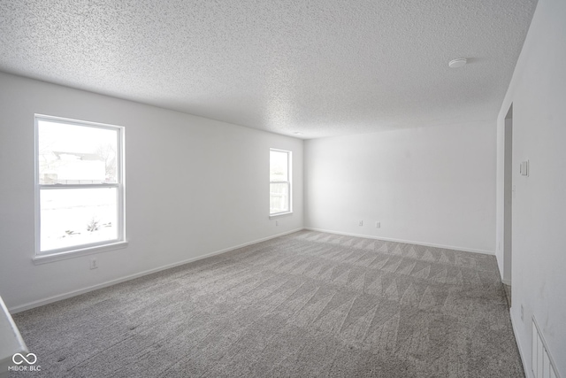
{"label": "plain white back wall with two low outlets, no windows", "polygon": [[307,141],[305,201],[308,228],[493,253],[495,124]]}

